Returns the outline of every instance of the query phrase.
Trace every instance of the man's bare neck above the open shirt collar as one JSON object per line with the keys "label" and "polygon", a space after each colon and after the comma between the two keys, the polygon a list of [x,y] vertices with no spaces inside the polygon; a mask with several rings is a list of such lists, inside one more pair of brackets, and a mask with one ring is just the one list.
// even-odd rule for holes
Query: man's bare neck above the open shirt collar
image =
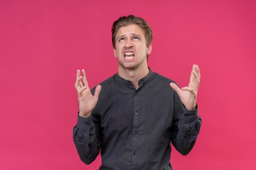
{"label": "man's bare neck above the open shirt collar", "polygon": [[129,80],[134,85],[135,89],[139,88],[139,80],[148,75],[148,65],[141,65],[139,68],[129,69],[123,68],[121,65],[118,66],[118,75],[126,80]]}

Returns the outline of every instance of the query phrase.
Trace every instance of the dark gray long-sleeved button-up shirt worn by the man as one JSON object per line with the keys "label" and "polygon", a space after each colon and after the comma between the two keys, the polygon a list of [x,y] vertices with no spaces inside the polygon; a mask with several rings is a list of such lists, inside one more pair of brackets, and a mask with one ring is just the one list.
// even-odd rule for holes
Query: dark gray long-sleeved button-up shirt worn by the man
{"label": "dark gray long-sleeved button-up shirt worn by the man", "polygon": [[81,160],[91,163],[101,149],[100,170],[171,170],[170,142],[187,155],[201,126],[198,109],[184,108],[171,82],[150,70],[137,90],[118,74],[100,83],[92,115],[78,116],[73,129]]}

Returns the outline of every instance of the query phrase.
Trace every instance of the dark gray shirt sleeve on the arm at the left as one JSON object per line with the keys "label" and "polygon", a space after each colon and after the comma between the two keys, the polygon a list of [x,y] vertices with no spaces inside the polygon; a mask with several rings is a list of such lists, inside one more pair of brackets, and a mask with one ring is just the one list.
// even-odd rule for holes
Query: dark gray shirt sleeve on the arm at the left
{"label": "dark gray shirt sleeve on the arm at the left", "polygon": [[[90,115],[88,118],[83,118],[78,115],[77,124],[73,128],[74,144],[80,159],[85,164],[90,164],[96,159],[101,145],[100,133],[97,131],[92,117]],[[95,123],[97,125],[97,122]]]}

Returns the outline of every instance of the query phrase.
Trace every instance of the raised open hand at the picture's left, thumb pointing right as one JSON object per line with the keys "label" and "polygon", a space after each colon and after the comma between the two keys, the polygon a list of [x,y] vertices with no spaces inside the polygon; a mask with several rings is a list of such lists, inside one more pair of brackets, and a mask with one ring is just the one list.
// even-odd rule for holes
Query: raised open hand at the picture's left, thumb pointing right
{"label": "raised open hand at the picture's left, thumb pointing right", "polygon": [[92,96],[85,76],[85,70],[82,70],[82,76],[80,76],[80,70],[77,70],[75,87],[78,94],[79,116],[87,118],[91,115],[92,109],[94,109],[98,102],[101,85],[97,85],[94,96]]}

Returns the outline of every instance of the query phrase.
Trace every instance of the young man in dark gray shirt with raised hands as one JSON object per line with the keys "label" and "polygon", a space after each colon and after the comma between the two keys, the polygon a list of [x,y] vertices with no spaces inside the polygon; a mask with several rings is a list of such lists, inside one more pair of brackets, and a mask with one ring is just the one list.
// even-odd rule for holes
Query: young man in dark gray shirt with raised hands
{"label": "young man in dark gray shirt with raised hands", "polygon": [[200,81],[193,65],[188,87],[148,68],[152,31],[145,20],[120,17],[112,26],[118,73],[88,87],[77,70],[78,122],[73,138],[81,160],[99,155],[100,170],[171,170],[171,144],[187,155],[201,126],[196,96]]}

